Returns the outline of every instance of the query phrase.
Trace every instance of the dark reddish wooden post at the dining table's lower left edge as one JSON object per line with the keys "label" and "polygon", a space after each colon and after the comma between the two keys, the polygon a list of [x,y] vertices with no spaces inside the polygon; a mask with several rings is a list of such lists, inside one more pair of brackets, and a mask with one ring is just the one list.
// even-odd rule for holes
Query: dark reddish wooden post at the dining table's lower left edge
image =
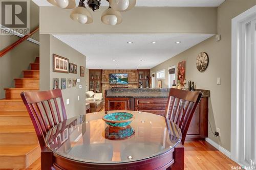
{"label": "dark reddish wooden post at the dining table's lower left edge", "polygon": [[51,170],[53,164],[52,151],[45,148],[41,151],[41,170]]}

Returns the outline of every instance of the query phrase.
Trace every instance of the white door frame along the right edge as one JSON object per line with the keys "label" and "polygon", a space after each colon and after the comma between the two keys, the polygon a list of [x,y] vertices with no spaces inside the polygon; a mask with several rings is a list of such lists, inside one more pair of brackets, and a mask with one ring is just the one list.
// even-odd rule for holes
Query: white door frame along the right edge
{"label": "white door frame along the right edge", "polygon": [[[240,96],[244,95],[244,85],[240,81],[243,79],[243,74],[241,72],[248,69],[245,64],[241,64],[244,61],[244,55],[242,54],[243,46],[241,41],[243,41],[242,26],[249,19],[256,16],[256,5],[247,11],[241,13],[237,17],[232,19],[232,39],[231,39],[231,155],[230,158],[239,163],[242,166],[246,166],[244,162],[241,162],[242,154],[239,153],[241,145],[244,143],[239,142],[244,132],[242,128],[244,127],[244,121],[240,118],[242,115],[242,109],[244,107],[244,99]],[[256,123],[256,116],[254,116]],[[254,134],[256,136],[256,133]],[[254,154],[256,149],[254,148]],[[256,156],[256,155],[255,155]],[[254,156],[254,159],[255,159]]]}

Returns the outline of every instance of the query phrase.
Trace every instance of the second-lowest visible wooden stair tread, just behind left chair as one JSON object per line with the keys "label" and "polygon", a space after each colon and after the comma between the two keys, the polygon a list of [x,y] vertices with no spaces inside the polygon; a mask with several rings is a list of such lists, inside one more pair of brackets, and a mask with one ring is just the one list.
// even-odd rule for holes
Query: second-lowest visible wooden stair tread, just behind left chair
{"label": "second-lowest visible wooden stair tread, just behind left chair", "polygon": [[33,126],[0,126],[0,133],[31,133],[35,132]]}

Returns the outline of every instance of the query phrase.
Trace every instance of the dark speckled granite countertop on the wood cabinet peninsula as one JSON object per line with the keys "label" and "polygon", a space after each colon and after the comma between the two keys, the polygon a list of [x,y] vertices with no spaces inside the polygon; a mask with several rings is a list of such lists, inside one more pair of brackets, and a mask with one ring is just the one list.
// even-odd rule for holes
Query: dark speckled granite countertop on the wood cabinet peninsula
{"label": "dark speckled granite countertop on the wood cabinet peninsula", "polygon": [[[146,92],[148,91],[148,92]],[[196,89],[203,93],[203,98],[209,98],[209,90]],[[169,89],[119,89],[108,90],[106,93],[107,98],[168,98]]]}

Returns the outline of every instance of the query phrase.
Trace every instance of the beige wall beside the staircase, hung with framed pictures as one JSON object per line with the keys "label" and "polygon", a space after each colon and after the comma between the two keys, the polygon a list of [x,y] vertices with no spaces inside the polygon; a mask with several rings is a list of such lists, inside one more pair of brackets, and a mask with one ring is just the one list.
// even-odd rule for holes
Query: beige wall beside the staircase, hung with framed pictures
{"label": "beige wall beside the staircase, hung with framed pictures", "polygon": [[[76,87],[61,91],[68,118],[83,114],[85,112],[86,77],[80,77],[80,66],[86,66],[86,56],[52,35],[40,35],[40,40],[40,90],[53,89],[54,78],[59,78],[59,80],[61,78],[80,79],[80,83],[77,83]],[[53,54],[68,58],[69,62],[77,64],[77,74],[53,72]],[[79,85],[82,85],[82,89],[79,88]],[[67,99],[70,100],[69,105],[66,105]]]}

